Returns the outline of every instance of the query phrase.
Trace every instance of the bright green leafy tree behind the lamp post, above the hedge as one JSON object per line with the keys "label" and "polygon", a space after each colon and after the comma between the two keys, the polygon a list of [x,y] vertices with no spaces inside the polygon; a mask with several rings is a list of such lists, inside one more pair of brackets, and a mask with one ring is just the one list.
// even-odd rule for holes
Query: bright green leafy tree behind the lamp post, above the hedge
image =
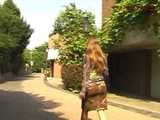
{"label": "bright green leafy tree behind the lamp post, above the hedge", "polygon": [[[87,31],[84,30],[84,18],[88,19]],[[59,33],[63,37],[55,44],[60,51],[60,62],[64,64],[81,63],[87,37],[97,34],[94,15],[70,4],[60,13],[53,27],[53,33]]]}

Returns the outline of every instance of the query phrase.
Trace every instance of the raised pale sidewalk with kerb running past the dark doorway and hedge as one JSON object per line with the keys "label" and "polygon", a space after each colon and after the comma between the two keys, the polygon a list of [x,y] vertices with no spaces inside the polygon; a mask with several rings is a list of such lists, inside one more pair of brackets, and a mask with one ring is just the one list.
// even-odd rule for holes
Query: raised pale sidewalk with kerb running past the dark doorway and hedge
{"label": "raised pale sidewalk with kerb running past the dark doorway and hedge", "polygon": [[[61,79],[48,78],[45,84],[53,88],[63,89]],[[107,98],[108,103],[112,106],[160,119],[160,100],[158,99],[142,98],[118,92],[108,93]]]}

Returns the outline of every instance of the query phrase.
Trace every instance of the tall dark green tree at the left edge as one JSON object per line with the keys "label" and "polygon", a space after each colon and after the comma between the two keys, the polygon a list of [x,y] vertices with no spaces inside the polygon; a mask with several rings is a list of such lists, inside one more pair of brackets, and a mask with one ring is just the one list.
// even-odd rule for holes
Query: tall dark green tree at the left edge
{"label": "tall dark green tree at the left edge", "polygon": [[18,72],[22,53],[33,30],[12,0],[0,5],[0,72]]}

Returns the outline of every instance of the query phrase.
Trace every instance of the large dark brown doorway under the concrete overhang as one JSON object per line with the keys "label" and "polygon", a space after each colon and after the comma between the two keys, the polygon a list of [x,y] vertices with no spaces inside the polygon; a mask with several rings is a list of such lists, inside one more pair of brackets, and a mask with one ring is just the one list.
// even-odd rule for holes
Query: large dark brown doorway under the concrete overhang
{"label": "large dark brown doorway under the concrete overhang", "polygon": [[151,52],[149,50],[109,55],[110,88],[150,96]]}

